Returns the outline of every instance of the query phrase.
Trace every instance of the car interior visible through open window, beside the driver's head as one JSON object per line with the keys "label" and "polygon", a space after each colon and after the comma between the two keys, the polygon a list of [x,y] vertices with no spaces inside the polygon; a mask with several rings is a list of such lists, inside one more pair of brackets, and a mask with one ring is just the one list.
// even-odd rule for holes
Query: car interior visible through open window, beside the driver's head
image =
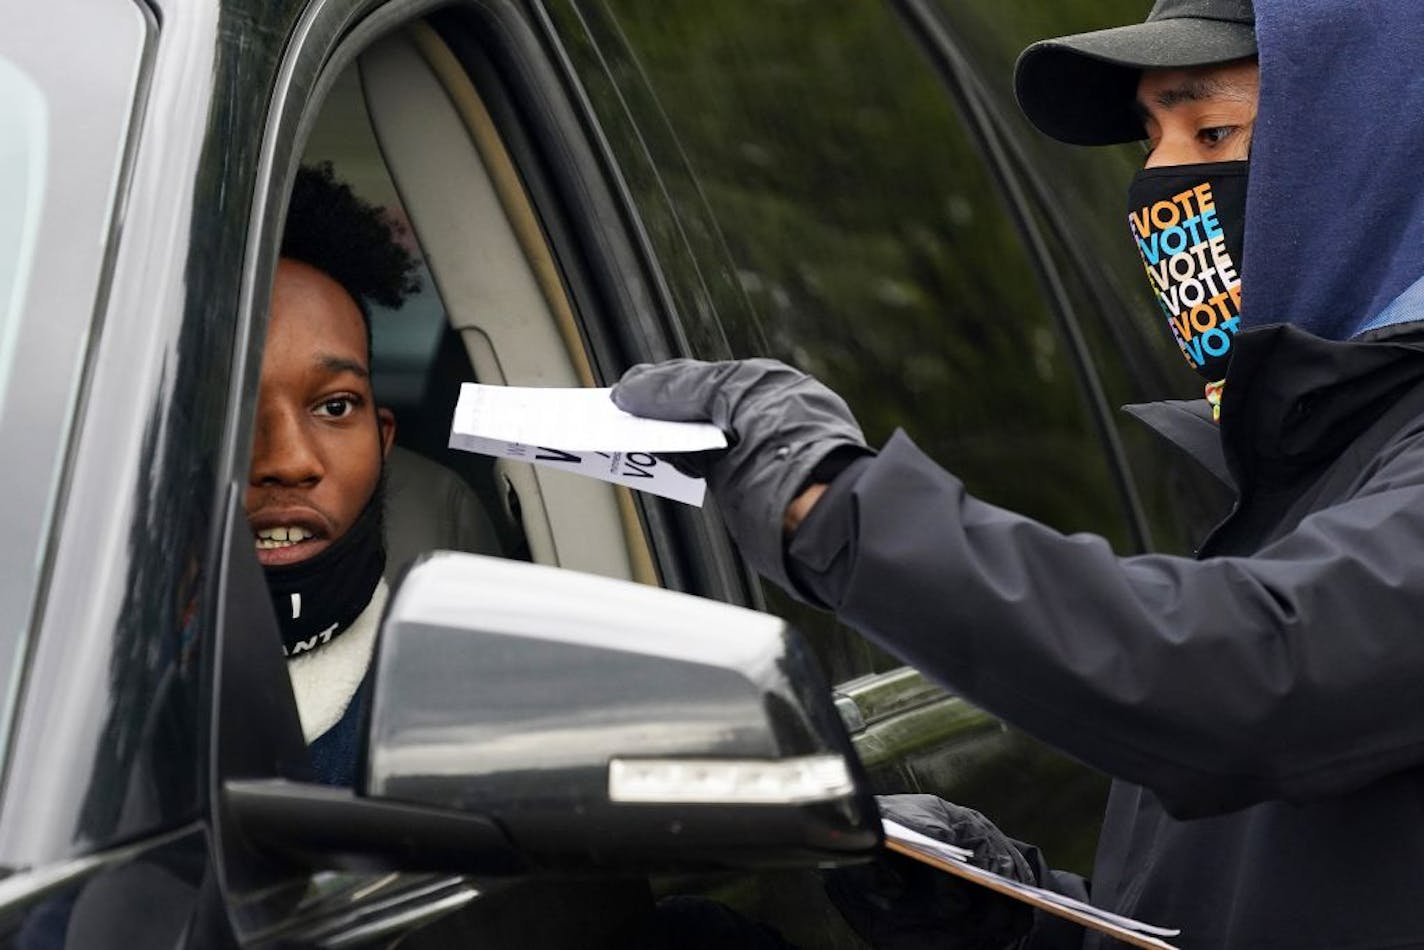
{"label": "car interior visible through open window, beside the driver's head", "polygon": [[554,256],[468,73],[416,21],[333,83],[302,157],[409,226],[422,292],[373,308],[373,385],[396,413],[387,575],[466,550],[656,584],[627,489],[450,449],[460,385],[592,386]]}

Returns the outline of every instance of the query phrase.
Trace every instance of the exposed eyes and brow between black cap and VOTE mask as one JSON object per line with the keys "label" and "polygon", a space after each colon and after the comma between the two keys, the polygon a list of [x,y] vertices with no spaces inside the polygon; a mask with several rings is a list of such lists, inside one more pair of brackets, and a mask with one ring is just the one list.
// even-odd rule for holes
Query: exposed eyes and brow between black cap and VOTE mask
{"label": "exposed eyes and brow between black cap and VOTE mask", "polygon": [[1246,158],[1259,95],[1256,60],[1146,70],[1136,103],[1152,150],[1146,167]]}

